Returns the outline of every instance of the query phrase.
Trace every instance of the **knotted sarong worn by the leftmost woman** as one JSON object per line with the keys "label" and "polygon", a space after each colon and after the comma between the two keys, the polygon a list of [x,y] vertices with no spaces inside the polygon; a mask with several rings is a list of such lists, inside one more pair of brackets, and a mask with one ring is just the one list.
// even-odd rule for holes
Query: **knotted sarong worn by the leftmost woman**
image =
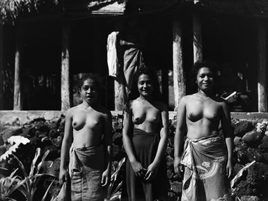
{"label": "knotted sarong worn by the leftmost woman", "polygon": [[105,168],[104,146],[70,148],[69,174],[72,201],[102,201],[107,188],[102,187]]}

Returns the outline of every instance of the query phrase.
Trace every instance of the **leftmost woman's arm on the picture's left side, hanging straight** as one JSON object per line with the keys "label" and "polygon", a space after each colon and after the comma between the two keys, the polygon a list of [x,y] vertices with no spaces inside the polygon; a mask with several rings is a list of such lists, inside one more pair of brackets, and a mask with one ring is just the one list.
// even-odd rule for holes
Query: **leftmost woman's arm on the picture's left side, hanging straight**
{"label": "leftmost woman's arm on the picture's left side, hanging straight", "polygon": [[59,174],[59,182],[63,184],[63,182],[67,182],[69,179],[69,174],[67,171],[67,160],[68,154],[70,150],[70,146],[72,143],[72,108],[70,108],[65,116],[65,128],[64,128],[64,136],[63,143],[61,145],[61,165],[60,165],[60,174]]}

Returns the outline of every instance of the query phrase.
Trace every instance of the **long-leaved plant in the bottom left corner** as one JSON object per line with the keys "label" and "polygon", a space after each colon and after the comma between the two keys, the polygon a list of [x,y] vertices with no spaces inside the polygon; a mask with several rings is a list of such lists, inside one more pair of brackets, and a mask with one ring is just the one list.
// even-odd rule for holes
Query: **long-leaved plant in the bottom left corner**
{"label": "long-leaved plant in the bottom left corner", "polygon": [[[23,172],[23,177],[20,177],[19,175],[15,175],[18,168],[13,171],[9,177],[4,177],[0,179],[0,200],[14,200],[13,198],[10,198],[10,195],[15,191],[19,191],[24,195],[27,201],[33,201],[33,195],[36,193],[36,190],[38,189],[38,183],[40,182],[41,177],[43,176],[49,176],[53,177],[54,175],[46,174],[46,173],[40,173],[41,169],[44,168],[44,163],[47,155],[49,154],[49,150],[45,152],[45,154],[42,156],[42,159],[40,163],[37,164],[38,159],[41,155],[40,147],[36,149],[36,155],[34,156],[34,159],[31,163],[31,170],[29,174],[26,172],[26,169],[20,161],[17,156],[13,155],[13,158],[17,161],[19,168]],[[50,168],[52,166],[52,163],[50,164]],[[49,187],[47,188],[47,191],[42,197],[42,201],[45,201],[45,198],[47,197],[47,193],[49,191],[49,188],[52,186],[54,180],[49,184]]]}

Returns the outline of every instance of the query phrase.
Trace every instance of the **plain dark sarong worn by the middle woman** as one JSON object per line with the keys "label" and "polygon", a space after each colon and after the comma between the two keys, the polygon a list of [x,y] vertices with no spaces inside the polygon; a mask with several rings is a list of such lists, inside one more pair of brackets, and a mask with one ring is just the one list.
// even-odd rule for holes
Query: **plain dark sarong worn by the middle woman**
{"label": "plain dark sarong worn by the middle woman", "polygon": [[[155,159],[159,144],[159,134],[147,133],[141,129],[134,129],[133,143],[136,159],[143,168],[148,168]],[[129,201],[167,200],[168,180],[166,175],[166,156],[159,165],[157,176],[152,182],[146,182],[141,177],[136,177],[132,165],[127,159],[126,182]]]}

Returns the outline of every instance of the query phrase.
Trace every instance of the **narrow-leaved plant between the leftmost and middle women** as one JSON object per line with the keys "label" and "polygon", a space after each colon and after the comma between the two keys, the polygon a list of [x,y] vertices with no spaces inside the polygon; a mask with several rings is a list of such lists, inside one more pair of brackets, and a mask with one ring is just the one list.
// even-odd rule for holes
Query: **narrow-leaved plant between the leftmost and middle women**
{"label": "narrow-leaved plant between the leftmost and middle women", "polygon": [[106,201],[112,201],[112,200],[120,200],[121,198],[121,186],[123,184],[123,181],[118,176],[120,175],[120,170],[123,167],[123,164],[125,163],[125,157],[121,159],[118,163],[118,166],[112,165],[113,174],[111,175],[111,183],[108,187],[108,193]]}

